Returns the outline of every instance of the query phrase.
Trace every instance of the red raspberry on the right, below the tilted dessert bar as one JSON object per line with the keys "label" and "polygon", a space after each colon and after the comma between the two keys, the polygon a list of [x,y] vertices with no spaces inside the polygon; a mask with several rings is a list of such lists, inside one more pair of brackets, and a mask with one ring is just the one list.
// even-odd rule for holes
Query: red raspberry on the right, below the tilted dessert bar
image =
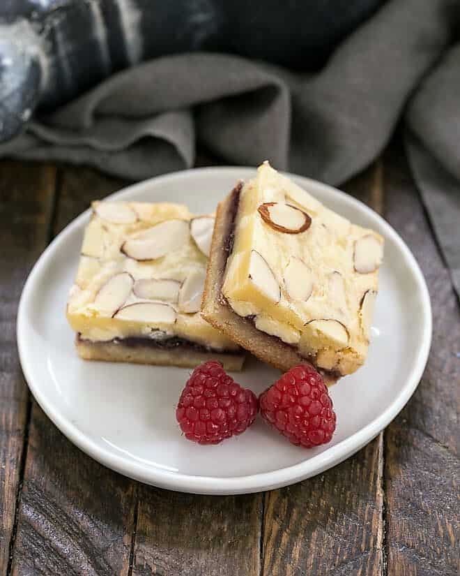
{"label": "red raspberry on the right, below the tilted dessert bar", "polygon": [[259,397],[261,415],[293,444],[313,448],[330,441],[336,416],[321,375],[299,364]]}

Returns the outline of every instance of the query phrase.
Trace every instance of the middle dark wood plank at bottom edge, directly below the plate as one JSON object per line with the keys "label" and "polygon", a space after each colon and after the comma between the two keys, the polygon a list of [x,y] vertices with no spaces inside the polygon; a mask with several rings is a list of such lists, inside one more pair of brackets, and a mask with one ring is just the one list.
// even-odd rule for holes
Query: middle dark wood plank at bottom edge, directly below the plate
{"label": "middle dark wood plank at bottom edge, directly below the plate", "polygon": [[261,494],[141,487],[133,576],[259,576]]}

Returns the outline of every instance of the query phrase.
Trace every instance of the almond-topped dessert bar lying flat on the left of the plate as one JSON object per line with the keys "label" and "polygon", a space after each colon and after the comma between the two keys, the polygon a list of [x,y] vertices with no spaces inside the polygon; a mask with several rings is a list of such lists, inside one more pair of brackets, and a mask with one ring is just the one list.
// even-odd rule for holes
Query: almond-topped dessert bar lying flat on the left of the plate
{"label": "almond-topped dessert bar lying flat on the left of the plate", "polygon": [[213,225],[183,205],[93,202],[67,307],[79,355],[240,370],[242,350],[199,313]]}

